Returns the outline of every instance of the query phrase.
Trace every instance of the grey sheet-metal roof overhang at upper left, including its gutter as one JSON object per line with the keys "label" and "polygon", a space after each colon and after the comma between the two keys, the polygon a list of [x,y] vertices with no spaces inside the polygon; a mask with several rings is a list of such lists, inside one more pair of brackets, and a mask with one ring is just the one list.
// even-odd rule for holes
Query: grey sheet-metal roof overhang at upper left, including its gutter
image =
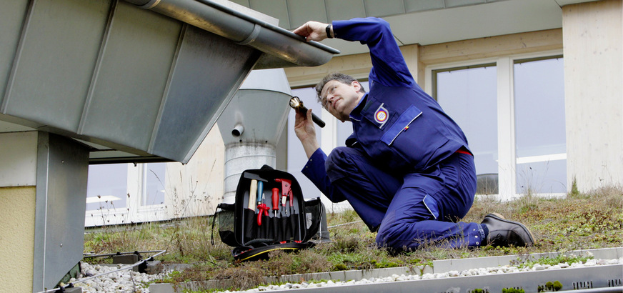
{"label": "grey sheet-metal roof overhang at upper left, including its gutter", "polygon": [[0,131],[78,139],[91,164],[188,162],[251,69],[317,66],[339,53],[240,7],[13,2],[0,19],[14,28],[0,35]]}

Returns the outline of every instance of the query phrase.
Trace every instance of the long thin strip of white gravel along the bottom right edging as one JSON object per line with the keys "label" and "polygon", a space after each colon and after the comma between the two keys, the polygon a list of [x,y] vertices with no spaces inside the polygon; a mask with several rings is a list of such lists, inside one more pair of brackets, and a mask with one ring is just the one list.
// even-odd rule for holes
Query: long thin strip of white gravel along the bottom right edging
{"label": "long thin strip of white gravel along the bottom right edging", "polygon": [[[277,291],[277,290],[290,290],[290,289],[304,289],[304,288],[315,288],[315,287],[334,287],[334,286],[349,286],[349,285],[357,285],[357,284],[374,284],[374,283],[384,283],[384,282],[397,282],[397,281],[412,281],[419,279],[442,279],[449,277],[468,277],[468,276],[480,276],[487,274],[506,274],[506,273],[516,273],[516,272],[533,272],[533,271],[543,271],[546,269],[566,269],[566,268],[574,268],[574,267],[594,267],[598,265],[607,265],[607,264],[623,264],[623,257],[619,259],[589,259],[587,262],[574,262],[572,264],[562,263],[557,265],[549,265],[549,264],[534,264],[532,267],[524,267],[518,268],[510,265],[502,266],[502,267],[487,267],[487,268],[479,268],[479,269],[466,269],[464,271],[449,271],[444,273],[436,273],[436,274],[423,274],[419,276],[417,274],[409,274],[409,275],[397,275],[394,274],[391,277],[384,278],[370,278],[370,279],[361,279],[359,281],[350,280],[347,282],[340,281],[327,281],[327,282],[301,282],[301,283],[286,283],[281,285],[269,285],[269,286],[260,286],[254,289],[249,289],[246,291],[235,291],[235,292],[263,292],[263,291]],[[231,293],[231,291],[224,291],[225,293]]]}

